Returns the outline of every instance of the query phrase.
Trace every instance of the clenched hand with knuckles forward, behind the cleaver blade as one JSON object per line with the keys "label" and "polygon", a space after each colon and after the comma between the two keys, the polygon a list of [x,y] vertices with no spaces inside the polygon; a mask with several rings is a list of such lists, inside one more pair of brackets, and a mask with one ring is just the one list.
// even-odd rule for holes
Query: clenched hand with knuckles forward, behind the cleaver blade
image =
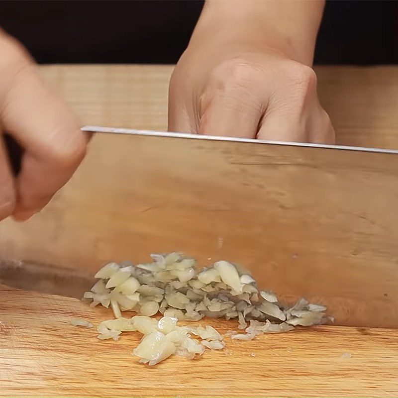
{"label": "clenched hand with knuckles forward, behind the cleaver blade", "polygon": [[288,44],[239,33],[238,24],[226,33],[204,18],[170,82],[169,130],[334,143],[316,75]]}

